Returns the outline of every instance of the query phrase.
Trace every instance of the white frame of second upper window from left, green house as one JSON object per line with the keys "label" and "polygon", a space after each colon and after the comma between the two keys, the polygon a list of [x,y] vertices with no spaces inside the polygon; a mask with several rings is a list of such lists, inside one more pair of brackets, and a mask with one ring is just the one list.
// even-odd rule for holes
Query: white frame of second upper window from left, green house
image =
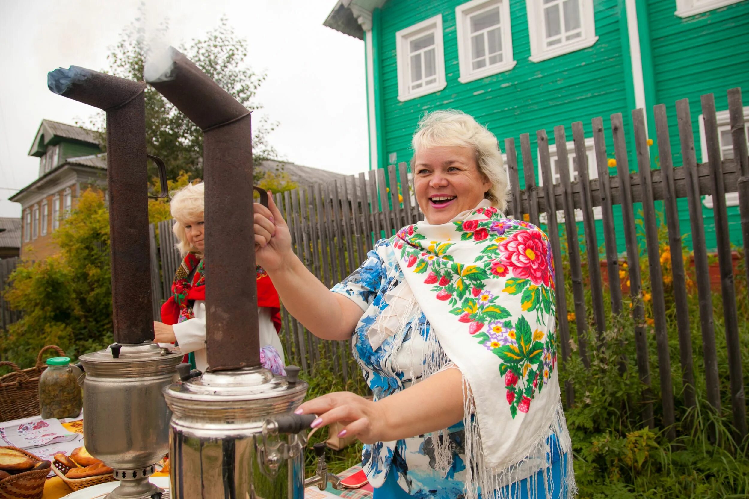
{"label": "white frame of second upper window from left, green house", "polygon": [[[461,76],[458,82],[467,83],[512,70],[518,61],[512,55],[512,24],[510,22],[509,0],[472,0],[455,7],[455,26],[458,31],[458,62]],[[471,51],[470,16],[491,7],[500,7],[500,30],[503,61],[491,66],[473,70]]]}

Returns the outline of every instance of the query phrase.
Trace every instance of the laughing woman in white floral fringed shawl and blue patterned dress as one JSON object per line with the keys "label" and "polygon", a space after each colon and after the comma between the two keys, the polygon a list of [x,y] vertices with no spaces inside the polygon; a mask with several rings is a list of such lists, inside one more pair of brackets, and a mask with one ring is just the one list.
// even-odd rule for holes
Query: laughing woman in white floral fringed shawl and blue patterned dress
{"label": "laughing woman in white floral fringed shawl and blue patterned dress", "polygon": [[411,168],[425,220],[380,239],[333,290],[291,251],[276,206],[255,204],[256,258],[289,313],[352,340],[375,396],[327,394],[297,414],[366,444],[375,499],[569,497],[549,240],[502,214],[497,138],[473,117],[423,117]]}

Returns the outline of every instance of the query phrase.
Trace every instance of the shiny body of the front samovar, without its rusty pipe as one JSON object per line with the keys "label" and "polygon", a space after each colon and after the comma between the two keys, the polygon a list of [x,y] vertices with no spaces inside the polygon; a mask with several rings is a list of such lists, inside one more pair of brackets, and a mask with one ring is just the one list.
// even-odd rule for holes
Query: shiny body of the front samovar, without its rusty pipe
{"label": "shiny body of the front samovar, without its rusty pipe", "polygon": [[[288,414],[307,391],[298,368],[204,373],[164,390],[172,409],[172,498],[304,497],[305,430]],[[184,376],[182,376],[184,377]]]}

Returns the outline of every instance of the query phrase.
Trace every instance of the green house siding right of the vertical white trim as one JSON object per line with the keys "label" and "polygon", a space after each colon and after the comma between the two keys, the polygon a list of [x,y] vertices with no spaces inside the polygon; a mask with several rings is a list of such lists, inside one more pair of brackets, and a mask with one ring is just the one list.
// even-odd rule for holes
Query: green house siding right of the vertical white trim
{"label": "green house siding right of the vertical white trim", "polygon": [[[655,83],[655,102],[648,104],[667,105],[671,142],[677,144],[679,131],[673,102],[689,99],[697,159],[704,159],[698,124],[702,114],[700,95],[715,94],[715,107],[723,111],[728,108],[728,88],[749,88],[749,1],[687,18],[674,15],[676,0],[648,0],[646,7]],[[746,91],[743,100],[744,105],[749,105]],[[678,147],[673,148],[673,162],[676,166],[682,164]],[[728,206],[727,211],[731,242],[742,245],[739,206]],[[703,205],[703,217],[707,246],[715,248],[713,210]],[[688,233],[689,210],[684,199],[679,200],[679,218],[682,231]],[[691,245],[691,241],[687,242]]]}

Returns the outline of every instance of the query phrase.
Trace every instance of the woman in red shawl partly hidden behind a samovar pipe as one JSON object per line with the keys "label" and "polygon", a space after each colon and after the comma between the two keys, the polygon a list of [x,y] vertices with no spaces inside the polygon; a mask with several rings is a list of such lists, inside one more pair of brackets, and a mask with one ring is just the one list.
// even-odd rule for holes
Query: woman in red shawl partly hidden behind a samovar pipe
{"label": "woman in red shawl partly hidden behind a samovar pipe", "polygon": [[[162,322],[154,322],[159,343],[176,343],[193,368],[207,367],[205,352],[204,184],[189,184],[172,194],[169,203],[175,219],[174,232],[182,263],[177,269],[172,293],[161,307]],[[267,273],[257,267],[260,357],[264,367],[283,375],[284,354],[279,296]]]}

